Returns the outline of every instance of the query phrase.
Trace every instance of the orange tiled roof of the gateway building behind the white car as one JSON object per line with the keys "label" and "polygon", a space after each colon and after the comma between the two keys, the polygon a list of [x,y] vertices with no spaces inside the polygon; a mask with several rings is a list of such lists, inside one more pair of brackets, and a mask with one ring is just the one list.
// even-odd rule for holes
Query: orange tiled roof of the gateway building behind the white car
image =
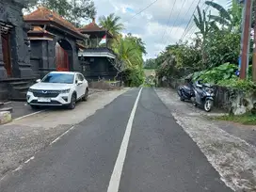
{"label": "orange tiled roof of the gateway building behind the white car", "polygon": [[83,34],[81,34],[73,24],[65,20],[56,12],[44,7],[40,7],[28,15],[24,15],[24,22],[54,22],[60,24],[63,28],[71,30],[80,38],[83,37]]}

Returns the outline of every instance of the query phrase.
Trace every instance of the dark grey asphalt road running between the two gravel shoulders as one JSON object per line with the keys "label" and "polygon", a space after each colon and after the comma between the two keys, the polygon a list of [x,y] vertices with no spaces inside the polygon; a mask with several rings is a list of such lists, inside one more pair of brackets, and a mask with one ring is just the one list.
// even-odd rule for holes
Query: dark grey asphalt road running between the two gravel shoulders
{"label": "dark grey asphalt road running between the two gravel shoulders", "polygon": [[[4,178],[0,191],[232,191],[152,88],[143,88],[132,130],[127,132],[138,92],[139,88],[129,90],[75,125],[24,168]],[[126,150],[125,161],[119,162]],[[119,184],[119,190],[109,191],[110,183]]]}

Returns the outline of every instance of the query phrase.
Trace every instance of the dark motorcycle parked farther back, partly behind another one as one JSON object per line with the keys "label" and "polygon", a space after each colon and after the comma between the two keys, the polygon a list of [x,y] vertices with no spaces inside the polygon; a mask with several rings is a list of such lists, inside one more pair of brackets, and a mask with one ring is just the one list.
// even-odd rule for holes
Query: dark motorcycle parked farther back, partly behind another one
{"label": "dark motorcycle parked farther back, partly behind another one", "polygon": [[194,86],[191,79],[186,79],[187,85],[179,86],[177,89],[178,95],[180,96],[181,101],[191,100],[192,97],[195,97]]}

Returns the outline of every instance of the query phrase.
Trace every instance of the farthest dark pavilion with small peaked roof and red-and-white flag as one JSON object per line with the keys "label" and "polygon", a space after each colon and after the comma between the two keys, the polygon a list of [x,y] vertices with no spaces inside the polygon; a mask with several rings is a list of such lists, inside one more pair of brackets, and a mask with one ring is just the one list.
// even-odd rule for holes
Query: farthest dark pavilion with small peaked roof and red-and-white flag
{"label": "farthest dark pavilion with small peaked roof and red-and-white flag", "polygon": [[113,80],[118,73],[114,65],[117,56],[110,48],[113,36],[96,24],[95,19],[79,31],[88,36],[87,49],[78,53],[84,75],[88,80]]}

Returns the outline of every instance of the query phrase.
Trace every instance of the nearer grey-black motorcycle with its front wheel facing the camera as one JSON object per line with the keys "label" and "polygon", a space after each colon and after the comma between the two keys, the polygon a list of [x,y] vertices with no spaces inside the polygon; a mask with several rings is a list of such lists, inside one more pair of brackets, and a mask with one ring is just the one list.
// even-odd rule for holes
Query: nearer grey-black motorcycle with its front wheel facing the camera
{"label": "nearer grey-black motorcycle with its front wheel facing the camera", "polygon": [[192,103],[210,112],[214,106],[214,88],[209,84],[200,84],[200,82],[196,82],[193,88],[195,96],[191,98]]}

